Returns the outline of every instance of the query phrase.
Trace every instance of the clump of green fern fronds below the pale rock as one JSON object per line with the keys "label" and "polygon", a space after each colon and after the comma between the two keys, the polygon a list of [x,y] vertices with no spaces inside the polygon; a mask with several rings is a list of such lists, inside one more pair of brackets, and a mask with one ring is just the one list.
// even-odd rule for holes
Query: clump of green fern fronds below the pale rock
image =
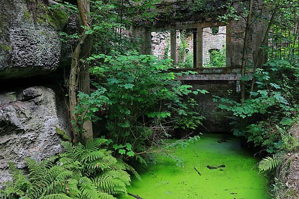
{"label": "clump of green fern fronds below the pale rock", "polygon": [[130,175],[135,170],[104,149],[105,139],[94,139],[77,146],[62,142],[65,153],[37,162],[27,158],[29,173],[9,163],[12,182],[0,191],[4,199],[115,199],[127,194]]}

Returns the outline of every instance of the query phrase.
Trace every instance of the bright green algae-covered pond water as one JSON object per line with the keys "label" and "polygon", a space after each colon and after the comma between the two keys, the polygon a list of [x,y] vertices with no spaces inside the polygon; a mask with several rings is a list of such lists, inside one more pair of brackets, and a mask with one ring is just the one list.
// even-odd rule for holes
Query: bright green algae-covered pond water
{"label": "bright green algae-covered pond water", "polygon": [[259,159],[241,148],[236,138],[217,142],[221,136],[204,134],[196,143],[177,149],[183,167],[169,157],[158,157],[157,164],[139,169],[143,181],[133,179],[128,192],[143,199],[270,199],[267,180],[256,168]]}

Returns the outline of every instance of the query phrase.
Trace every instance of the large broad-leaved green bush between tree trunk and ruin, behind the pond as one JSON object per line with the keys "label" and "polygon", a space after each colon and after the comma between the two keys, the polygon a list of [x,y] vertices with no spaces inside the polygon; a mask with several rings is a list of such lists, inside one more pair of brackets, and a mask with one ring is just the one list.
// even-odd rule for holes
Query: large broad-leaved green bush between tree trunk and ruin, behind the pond
{"label": "large broad-leaved green bush between tree trunk and ruin, behind the pond", "polygon": [[[202,117],[198,112],[188,110],[183,97],[206,91],[192,91],[192,86],[181,85],[175,80],[177,76],[195,72],[170,72],[171,60],[157,60],[137,52],[92,55],[87,61],[94,64],[91,73],[97,79],[93,82],[97,89],[91,95],[79,95],[77,122],[80,126],[84,119],[105,119],[111,146],[115,146],[119,156],[146,151],[147,142],[158,129],[163,132],[159,131],[158,137],[168,136],[161,124],[171,117],[178,120],[191,114],[192,121],[183,125],[195,128],[200,124]],[[194,101],[192,103],[195,105]],[[99,117],[99,111],[105,111],[105,116]],[[132,145],[130,149],[126,148],[129,143]]]}

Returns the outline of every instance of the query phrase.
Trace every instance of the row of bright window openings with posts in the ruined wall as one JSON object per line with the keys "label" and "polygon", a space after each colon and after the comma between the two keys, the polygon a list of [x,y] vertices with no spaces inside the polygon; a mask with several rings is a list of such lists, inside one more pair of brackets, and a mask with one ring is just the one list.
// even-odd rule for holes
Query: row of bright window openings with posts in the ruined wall
{"label": "row of bright window openings with posts in the ruined wall", "polygon": [[178,24],[151,30],[150,53],[170,58],[175,68],[230,67],[230,24]]}

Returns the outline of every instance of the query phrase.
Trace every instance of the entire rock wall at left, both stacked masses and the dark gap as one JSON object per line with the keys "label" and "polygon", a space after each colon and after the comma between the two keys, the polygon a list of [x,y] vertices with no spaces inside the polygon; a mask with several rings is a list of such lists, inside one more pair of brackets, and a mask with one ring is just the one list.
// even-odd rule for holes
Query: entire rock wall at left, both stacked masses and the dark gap
{"label": "entire rock wall at left, both stacked masses and the dark gap", "polygon": [[59,32],[73,34],[78,24],[45,2],[0,0],[0,188],[10,178],[9,161],[25,168],[26,157],[55,155],[70,134],[65,91],[58,85],[73,42],[63,44]]}

